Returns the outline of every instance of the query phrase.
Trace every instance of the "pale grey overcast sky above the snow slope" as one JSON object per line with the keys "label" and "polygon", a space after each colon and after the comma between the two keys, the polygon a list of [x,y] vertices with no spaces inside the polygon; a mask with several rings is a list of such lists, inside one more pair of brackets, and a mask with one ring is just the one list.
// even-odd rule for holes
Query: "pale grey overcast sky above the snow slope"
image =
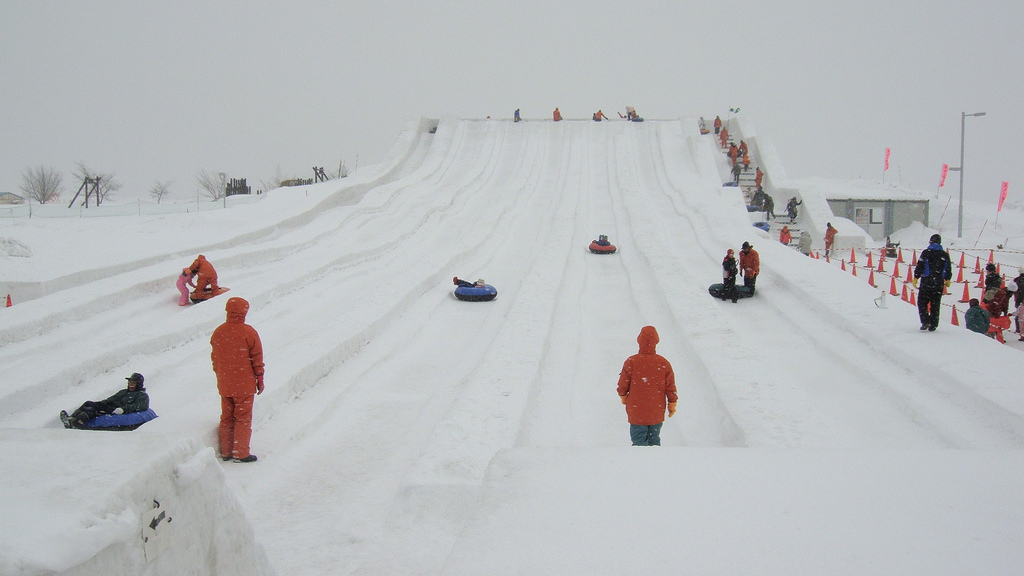
{"label": "pale grey overcast sky above the snow slope", "polygon": [[[790,177],[1024,196],[1024,2],[0,0],[0,192],[31,166],[119,196],[381,161],[410,119],[740,108]],[[947,187],[957,186],[954,173]],[[1016,180],[1016,181],[1015,181]],[[993,208],[994,210],[994,208]],[[993,212],[994,214],[994,212]]]}

